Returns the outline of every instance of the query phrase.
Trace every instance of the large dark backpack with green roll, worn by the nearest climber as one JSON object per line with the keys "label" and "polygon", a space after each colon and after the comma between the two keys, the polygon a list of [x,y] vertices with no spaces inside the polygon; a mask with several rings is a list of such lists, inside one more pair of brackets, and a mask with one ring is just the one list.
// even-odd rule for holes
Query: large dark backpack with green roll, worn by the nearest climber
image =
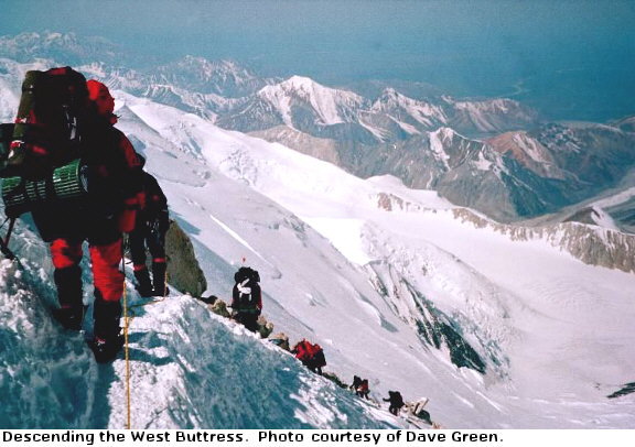
{"label": "large dark backpack with green roll, worn by the nearest climber", "polygon": [[2,198],[8,216],[87,192],[77,160],[95,117],[80,73],[71,67],[26,72],[15,123],[0,127],[0,177],[6,177]]}

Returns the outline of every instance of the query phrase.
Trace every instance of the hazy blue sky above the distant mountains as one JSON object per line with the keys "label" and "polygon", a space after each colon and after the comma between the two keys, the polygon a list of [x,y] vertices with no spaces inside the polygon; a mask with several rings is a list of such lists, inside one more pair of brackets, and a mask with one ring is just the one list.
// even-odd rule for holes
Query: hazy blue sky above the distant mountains
{"label": "hazy blue sky above the distant mountains", "polygon": [[[430,83],[517,94],[555,116],[635,112],[635,1],[0,0],[0,34],[101,35],[166,61],[233,58],[327,84]],[[591,103],[589,103],[591,102]],[[557,111],[556,109],[561,109]],[[584,110],[583,110],[584,109]]]}

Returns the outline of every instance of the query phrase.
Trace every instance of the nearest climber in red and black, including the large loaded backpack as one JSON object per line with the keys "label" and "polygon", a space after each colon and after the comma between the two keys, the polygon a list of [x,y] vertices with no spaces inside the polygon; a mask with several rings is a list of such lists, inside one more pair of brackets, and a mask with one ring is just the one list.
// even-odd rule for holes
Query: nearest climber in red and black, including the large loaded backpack
{"label": "nearest climber in red and black, including the large loaded backpack", "polygon": [[104,84],[86,81],[71,67],[29,72],[2,173],[15,175],[2,185],[8,216],[31,211],[50,243],[60,302],[54,315],[71,330],[83,327],[79,263],[88,241],[95,288],[89,346],[98,362],[114,359],[122,346],[121,236],[132,230],[143,201],[142,159],[114,128],[114,108]]}

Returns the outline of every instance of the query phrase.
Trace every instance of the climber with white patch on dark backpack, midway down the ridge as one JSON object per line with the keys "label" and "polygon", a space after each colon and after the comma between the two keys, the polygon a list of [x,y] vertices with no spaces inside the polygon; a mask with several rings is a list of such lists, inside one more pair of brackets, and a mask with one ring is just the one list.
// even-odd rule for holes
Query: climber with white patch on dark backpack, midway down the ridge
{"label": "climber with white patch on dark backpack, midway down the ridge", "polygon": [[234,274],[236,284],[232,290],[232,318],[252,332],[258,331],[258,317],[262,313],[260,275],[251,268],[243,266]]}

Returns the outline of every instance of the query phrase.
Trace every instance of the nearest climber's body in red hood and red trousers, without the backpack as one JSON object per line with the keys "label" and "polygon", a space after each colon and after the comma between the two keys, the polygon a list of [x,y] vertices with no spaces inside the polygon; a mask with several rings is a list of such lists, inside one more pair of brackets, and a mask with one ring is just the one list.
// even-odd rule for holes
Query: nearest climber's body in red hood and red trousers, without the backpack
{"label": "nearest climber's body in red hood and red trousers, without the backpack", "polygon": [[121,348],[119,319],[123,293],[121,232],[131,231],[136,210],[142,205],[143,159],[112,126],[115,100],[108,88],[87,83],[95,118],[87,126],[85,153],[89,199],[85,203],[51,203],[33,211],[42,238],[50,242],[61,324],[78,330],[84,316],[82,243],[88,241],[95,286],[94,340],[97,361],[111,360]]}

